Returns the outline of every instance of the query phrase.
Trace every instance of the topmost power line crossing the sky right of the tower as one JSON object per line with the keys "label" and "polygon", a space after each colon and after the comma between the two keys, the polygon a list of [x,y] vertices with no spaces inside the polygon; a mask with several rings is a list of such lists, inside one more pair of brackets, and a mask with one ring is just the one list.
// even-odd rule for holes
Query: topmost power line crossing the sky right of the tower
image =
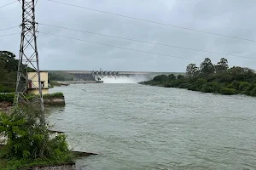
{"label": "topmost power line crossing the sky right of the tower", "polygon": [[232,37],[232,36],[227,36],[227,35],[224,35],[224,34],[218,34],[218,33],[210,32],[210,31],[201,31],[201,30],[196,30],[196,29],[193,29],[193,28],[187,28],[187,27],[183,27],[183,26],[174,26],[174,25],[169,25],[169,24],[165,24],[165,23],[156,22],[156,21],[153,21],[153,20],[144,20],[144,19],[140,19],[140,18],[136,18],[136,17],[131,17],[131,16],[124,15],[124,14],[115,14],[115,13],[111,13],[111,12],[108,12],[108,11],[102,11],[102,10],[99,10],[99,9],[96,9],[96,8],[87,8],[87,7],[82,7],[82,6],[79,6],[79,5],[73,5],[73,4],[70,4],[70,3],[61,3],[61,2],[58,2],[58,1],[55,1],[55,0],[47,0],[47,1],[52,2],[52,3],[60,3],[60,4],[63,4],[63,5],[67,5],[67,6],[71,6],[71,7],[75,7],[75,8],[84,8],[84,9],[91,10],[91,11],[96,11],[96,12],[99,12],[99,13],[112,14],[112,15],[115,15],[115,16],[128,18],[128,19],[132,19],[132,20],[140,20],[140,21],[143,21],[143,22],[153,23],[153,24],[157,24],[157,25],[161,25],[161,26],[170,26],[170,27],[175,27],[175,28],[188,30],[188,31],[197,31],[197,32],[201,32],[201,33],[212,34],[212,35],[220,36],[220,37],[229,37],[229,38],[235,38],[235,39],[240,39],[240,40],[249,41],[249,42],[256,42],[255,40],[252,40],[252,39],[247,39],[247,38],[242,38],[242,37]]}

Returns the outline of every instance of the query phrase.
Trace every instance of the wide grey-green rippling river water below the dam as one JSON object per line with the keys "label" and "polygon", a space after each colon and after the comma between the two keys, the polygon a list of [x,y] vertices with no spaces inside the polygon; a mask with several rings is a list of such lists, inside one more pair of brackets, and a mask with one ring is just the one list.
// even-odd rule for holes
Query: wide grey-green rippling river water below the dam
{"label": "wide grey-green rippling river water below the dam", "polygon": [[256,169],[256,98],[139,84],[76,84],[50,111],[77,169]]}

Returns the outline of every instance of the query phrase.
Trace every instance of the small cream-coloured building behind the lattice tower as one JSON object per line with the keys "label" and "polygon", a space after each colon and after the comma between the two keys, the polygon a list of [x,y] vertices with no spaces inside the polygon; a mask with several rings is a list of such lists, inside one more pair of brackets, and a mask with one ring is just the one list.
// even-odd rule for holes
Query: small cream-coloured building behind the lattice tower
{"label": "small cream-coloured building behind the lattice tower", "polygon": [[[27,77],[29,80],[27,94],[39,94],[38,73],[28,72]],[[45,72],[45,71],[40,72],[40,78],[41,78],[42,94],[49,94],[48,72]]]}

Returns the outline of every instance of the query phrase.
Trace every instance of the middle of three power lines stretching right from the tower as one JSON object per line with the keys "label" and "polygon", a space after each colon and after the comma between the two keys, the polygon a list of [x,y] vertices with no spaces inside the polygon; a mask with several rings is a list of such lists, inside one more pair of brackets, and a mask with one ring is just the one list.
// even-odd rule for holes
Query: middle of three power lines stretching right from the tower
{"label": "middle of three power lines stretching right from the tower", "polygon": [[145,42],[145,41],[135,40],[135,39],[126,38],[126,37],[115,37],[115,36],[110,36],[110,35],[106,35],[106,34],[100,34],[100,33],[91,32],[91,31],[81,31],[81,30],[62,27],[62,26],[52,26],[52,25],[43,24],[43,23],[38,23],[38,24],[40,24],[42,26],[51,26],[51,27],[61,28],[61,29],[70,30],[70,31],[79,31],[79,32],[84,32],[84,33],[88,33],[88,34],[94,34],[94,35],[97,35],[97,36],[113,37],[113,38],[118,38],[118,39],[122,39],[122,40],[133,41],[133,42],[143,42],[143,43],[148,43],[148,44],[160,45],[160,46],[171,47],[171,48],[180,48],[180,49],[186,49],[186,50],[192,50],[192,51],[198,51],[198,52],[204,52],[204,53],[210,53],[210,54],[222,54],[222,55],[239,57],[239,58],[255,59],[255,58],[252,58],[252,57],[245,57],[245,56],[231,55],[231,54],[223,54],[223,53],[219,53],[219,52],[212,52],[212,51],[206,51],[206,50],[195,49],[195,48],[184,48],[184,47],[173,46],[173,45],[168,45],[168,44],[163,44],[163,43]]}

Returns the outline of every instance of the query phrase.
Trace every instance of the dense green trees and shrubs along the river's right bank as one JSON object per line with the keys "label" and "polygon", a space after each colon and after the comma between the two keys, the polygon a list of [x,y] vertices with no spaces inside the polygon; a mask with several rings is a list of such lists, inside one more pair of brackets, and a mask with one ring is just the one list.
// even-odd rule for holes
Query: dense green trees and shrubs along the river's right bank
{"label": "dense green trees and shrubs along the river's right bank", "polygon": [[200,67],[190,64],[186,68],[186,75],[160,75],[141,83],[166,88],[187,88],[204,93],[256,96],[255,72],[239,66],[229,68],[228,60],[224,58],[220,59],[217,65],[212,65],[211,59],[208,58]]}

